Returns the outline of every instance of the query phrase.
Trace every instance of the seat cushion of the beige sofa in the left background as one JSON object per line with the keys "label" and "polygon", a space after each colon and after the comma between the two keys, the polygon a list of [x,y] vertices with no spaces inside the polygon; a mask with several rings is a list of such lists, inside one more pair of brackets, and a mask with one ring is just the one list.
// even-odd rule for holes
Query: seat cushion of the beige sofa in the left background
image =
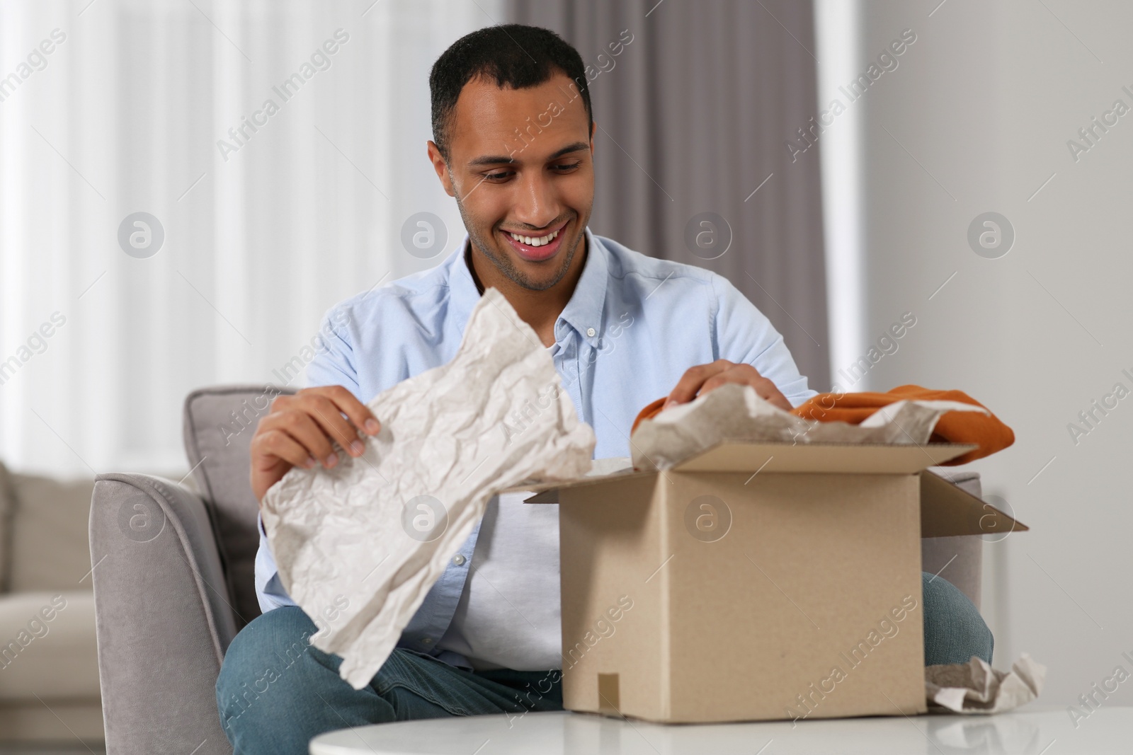
{"label": "seat cushion of the beige sofa in the left background", "polygon": [[0,703],[36,702],[36,695],[44,701],[99,700],[90,592],[0,595]]}

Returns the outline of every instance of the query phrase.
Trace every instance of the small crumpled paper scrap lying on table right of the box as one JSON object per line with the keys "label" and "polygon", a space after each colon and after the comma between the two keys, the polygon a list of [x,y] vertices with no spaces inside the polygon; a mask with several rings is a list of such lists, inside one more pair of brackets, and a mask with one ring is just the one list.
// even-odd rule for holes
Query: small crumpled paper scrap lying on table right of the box
{"label": "small crumpled paper scrap lying on table right of the box", "polygon": [[997,671],[976,655],[968,663],[925,667],[929,710],[988,715],[1024,705],[1042,692],[1047,667],[1023,653],[1011,671]]}

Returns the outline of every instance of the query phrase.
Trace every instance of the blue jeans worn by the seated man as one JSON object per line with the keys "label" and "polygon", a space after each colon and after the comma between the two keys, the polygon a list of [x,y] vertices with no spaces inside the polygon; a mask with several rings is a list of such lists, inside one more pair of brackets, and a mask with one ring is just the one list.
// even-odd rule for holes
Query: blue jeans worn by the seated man
{"label": "blue jeans worn by the seated man", "polygon": [[[972,601],[930,574],[922,594],[925,664],[990,663],[991,632]],[[300,609],[276,608],[232,641],[216,705],[235,755],[301,755],[320,733],[368,723],[562,710],[559,671],[465,671],[402,649],[355,690],[339,677],[342,659],[308,644],[316,630]]]}

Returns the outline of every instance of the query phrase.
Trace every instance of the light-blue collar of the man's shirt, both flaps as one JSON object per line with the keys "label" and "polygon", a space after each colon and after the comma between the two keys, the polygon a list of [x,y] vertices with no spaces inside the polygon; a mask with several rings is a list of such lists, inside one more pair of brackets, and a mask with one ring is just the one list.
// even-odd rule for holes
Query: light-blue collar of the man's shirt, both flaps
{"label": "light-blue collar of the man's shirt, both flaps", "polygon": [[[574,292],[570,301],[563,308],[555,323],[555,341],[563,337],[560,323],[566,323],[574,328],[583,341],[591,345],[598,343],[602,337],[602,312],[606,306],[606,286],[610,276],[610,251],[598,241],[590,229],[586,231],[586,265],[582,274],[578,278]],[[480,300],[480,292],[476,288],[472,274],[465,261],[465,249],[468,247],[468,234],[461,239],[460,244],[449,256],[445,264],[449,265],[449,290],[451,291],[451,306],[457,318],[457,326],[461,333],[468,325],[468,318],[472,309]],[[593,335],[591,333],[593,328]]]}

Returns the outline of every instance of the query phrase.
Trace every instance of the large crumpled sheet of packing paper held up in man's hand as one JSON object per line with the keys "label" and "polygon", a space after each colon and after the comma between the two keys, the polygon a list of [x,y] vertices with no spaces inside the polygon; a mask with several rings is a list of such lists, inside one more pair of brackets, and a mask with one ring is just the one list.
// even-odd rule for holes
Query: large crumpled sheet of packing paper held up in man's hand
{"label": "large crumpled sheet of packing paper held up in man's hand", "polygon": [[290,470],[262,507],[280,580],[322,627],[312,644],[342,657],[355,689],[389,658],[488,499],[581,477],[595,446],[535,331],[495,289],[451,362],[368,406],[382,429],[363,456]]}

